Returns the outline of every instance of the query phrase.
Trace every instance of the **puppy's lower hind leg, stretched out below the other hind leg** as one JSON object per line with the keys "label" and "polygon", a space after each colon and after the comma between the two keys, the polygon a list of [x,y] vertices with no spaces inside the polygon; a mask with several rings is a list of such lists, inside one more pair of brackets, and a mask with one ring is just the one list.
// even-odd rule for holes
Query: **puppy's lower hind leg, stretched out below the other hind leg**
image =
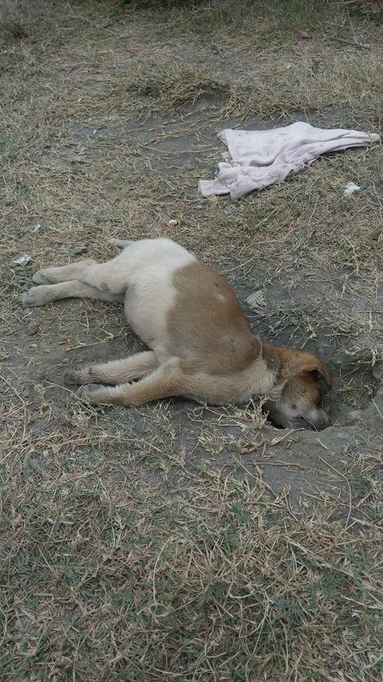
{"label": "puppy's lower hind leg, stretched out below the other hind leg", "polygon": [[24,308],[32,308],[35,305],[45,305],[50,301],[58,301],[60,298],[95,298],[99,301],[122,301],[123,296],[109,291],[100,291],[78,280],[60,282],[57,284],[43,284],[33,286],[23,294],[21,302]]}

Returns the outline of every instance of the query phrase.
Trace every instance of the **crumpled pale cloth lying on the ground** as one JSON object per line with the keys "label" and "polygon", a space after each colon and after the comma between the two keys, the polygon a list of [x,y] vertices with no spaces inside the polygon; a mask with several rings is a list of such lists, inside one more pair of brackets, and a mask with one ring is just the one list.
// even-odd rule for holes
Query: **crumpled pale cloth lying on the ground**
{"label": "crumpled pale cloth lying on the ground", "polygon": [[299,122],[272,130],[227,129],[218,139],[228,151],[218,163],[216,179],[200,180],[199,191],[204,197],[230,194],[236,200],[301,171],[321,154],[366,146],[379,142],[380,136],[357,130],[324,130]]}

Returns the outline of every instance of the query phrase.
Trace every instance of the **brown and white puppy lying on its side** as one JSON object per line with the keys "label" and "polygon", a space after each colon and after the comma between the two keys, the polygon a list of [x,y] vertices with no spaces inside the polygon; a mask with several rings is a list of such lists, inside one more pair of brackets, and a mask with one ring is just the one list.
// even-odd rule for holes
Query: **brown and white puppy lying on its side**
{"label": "brown and white puppy lying on its side", "polygon": [[35,273],[23,305],[60,298],[125,299],[133,331],[150,348],[125,359],[71,369],[69,384],[91,405],[142,405],[168,396],[214,405],[265,396],[277,426],[320,430],[323,382],[331,372],[314,355],[258,340],[231,286],[172,239],[110,239],[122,249]]}

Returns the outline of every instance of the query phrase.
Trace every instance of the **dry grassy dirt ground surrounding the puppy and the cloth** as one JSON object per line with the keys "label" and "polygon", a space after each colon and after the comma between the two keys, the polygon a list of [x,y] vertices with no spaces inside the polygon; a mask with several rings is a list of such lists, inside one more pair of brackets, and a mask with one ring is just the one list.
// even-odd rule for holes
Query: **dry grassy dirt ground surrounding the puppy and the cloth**
{"label": "dry grassy dirt ground surrounding the puppy and the cloth", "polygon": [[[382,148],[239,202],[197,184],[223,128],[379,131],[379,4],[165,5],[1,9],[0,679],[377,681]],[[139,340],[121,306],[21,293],[75,247],[158,235],[228,278],[255,333],[323,358],[329,428],[76,399],[67,367]]]}

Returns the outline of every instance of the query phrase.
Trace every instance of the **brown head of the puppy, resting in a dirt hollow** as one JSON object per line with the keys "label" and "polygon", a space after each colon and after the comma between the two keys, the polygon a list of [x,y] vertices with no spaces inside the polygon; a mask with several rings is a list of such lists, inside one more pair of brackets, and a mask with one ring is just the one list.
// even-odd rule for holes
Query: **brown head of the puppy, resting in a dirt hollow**
{"label": "brown head of the puppy, resting in a dirt hollow", "polygon": [[322,406],[323,384],[333,383],[330,370],[311,353],[279,351],[282,354],[280,376],[286,383],[277,401],[265,403],[271,421],[277,426],[321,431],[330,424]]}

